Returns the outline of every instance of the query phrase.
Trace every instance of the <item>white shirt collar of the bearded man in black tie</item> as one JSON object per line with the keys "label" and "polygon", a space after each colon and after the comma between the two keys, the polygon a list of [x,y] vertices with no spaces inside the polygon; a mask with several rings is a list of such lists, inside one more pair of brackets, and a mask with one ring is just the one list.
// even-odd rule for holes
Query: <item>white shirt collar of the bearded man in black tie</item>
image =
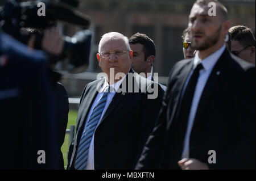
{"label": "white shirt collar of the bearded man in black tie", "polygon": [[217,63],[221,54],[224,52],[225,48],[226,48],[226,45],[224,44],[220,49],[210,54],[208,57],[204,58],[203,60],[199,58],[199,51],[197,50],[195,54],[195,60],[193,62],[193,68],[196,68],[196,65],[201,62],[204,67],[204,70],[212,69],[213,66]]}

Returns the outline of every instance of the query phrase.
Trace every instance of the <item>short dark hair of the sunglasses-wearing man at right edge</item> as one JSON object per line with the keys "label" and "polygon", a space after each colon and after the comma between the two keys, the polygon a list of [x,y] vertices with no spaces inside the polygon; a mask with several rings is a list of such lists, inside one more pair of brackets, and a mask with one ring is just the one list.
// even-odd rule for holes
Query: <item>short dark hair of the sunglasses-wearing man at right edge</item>
{"label": "short dark hair of the sunglasses-wearing man at right edge", "polygon": [[254,46],[255,47],[255,37],[253,31],[245,26],[234,26],[229,29],[232,40],[237,40],[243,47]]}

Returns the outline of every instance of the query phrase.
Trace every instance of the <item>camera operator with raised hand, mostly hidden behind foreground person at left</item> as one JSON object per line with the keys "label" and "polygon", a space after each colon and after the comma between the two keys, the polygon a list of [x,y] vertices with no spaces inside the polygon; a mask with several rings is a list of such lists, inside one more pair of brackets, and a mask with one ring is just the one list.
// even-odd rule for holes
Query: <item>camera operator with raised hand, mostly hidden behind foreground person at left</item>
{"label": "camera operator with raised hand, mostly hidden behind foreground person at left", "polygon": [[[41,35],[42,32],[36,30],[35,28],[22,28],[22,33],[27,33],[31,35],[28,40],[28,47],[34,49],[36,36]],[[53,86],[53,95],[56,102],[56,121],[57,121],[57,131],[59,133],[59,160],[58,160],[58,169],[64,169],[63,154],[61,152],[61,146],[63,145],[65,139],[65,131],[68,124],[68,93],[65,90],[64,86],[59,82],[61,75],[56,71],[53,71],[56,65],[56,60],[53,60],[54,57],[58,56],[63,50],[63,36],[56,27],[47,28],[44,30],[41,48],[53,56],[49,60],[49,77],[51,78]]]}

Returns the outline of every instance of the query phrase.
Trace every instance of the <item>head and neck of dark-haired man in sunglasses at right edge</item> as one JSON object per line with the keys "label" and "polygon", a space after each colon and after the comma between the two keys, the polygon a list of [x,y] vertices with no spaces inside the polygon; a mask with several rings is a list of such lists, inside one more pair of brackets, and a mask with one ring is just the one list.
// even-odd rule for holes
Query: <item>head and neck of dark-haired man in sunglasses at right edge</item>
{"label": "head and neck of dark-haired man in sunglasses at right edge", "polygon": [[234,26],[229,29],[232,39],[232,53],[255,65],[255,37],[250,28]]}

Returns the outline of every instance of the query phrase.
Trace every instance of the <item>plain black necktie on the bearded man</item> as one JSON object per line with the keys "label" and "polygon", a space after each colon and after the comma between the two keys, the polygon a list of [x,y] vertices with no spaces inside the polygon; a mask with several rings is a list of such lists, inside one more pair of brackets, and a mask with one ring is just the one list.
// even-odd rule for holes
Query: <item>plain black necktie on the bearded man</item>
{"label": "plain black necktie on the bearded man", "polygon": [[[203,69],[203,65],[200,63],[196,66],[196,69],[193,71],[191,78],[187,84],[185,89],[183,98],[181,100],[180,111],[179,115],[177,115],[176,120],[176,144],[179,145],[177,149],[177,157],[181,157],[181,152],[183,150],[184,138],[185,133],[187,131],[187,124],[188,124],[188,116],[191,110],[191,104],[193,100],[193,96],[196,89],[197,79],[199,78],[199,71]],[[179,159],[178,158],[178,159]]]}

